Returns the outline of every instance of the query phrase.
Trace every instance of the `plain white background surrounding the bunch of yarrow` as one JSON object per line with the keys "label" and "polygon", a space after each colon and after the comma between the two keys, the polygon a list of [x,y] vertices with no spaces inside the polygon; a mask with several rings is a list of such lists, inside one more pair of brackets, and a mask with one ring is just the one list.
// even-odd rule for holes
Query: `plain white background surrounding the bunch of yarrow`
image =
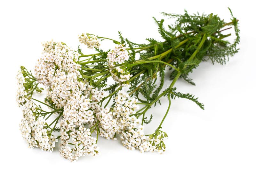
{"label": "plain white background surrounding the bunch of yarrow", "polygon": [[[256,169],[253,6],[246,1],[1,1],[0,166],[4,169]],[[172,102],[162,125],[169,135],[164,154],[129,151],[120,140],[104,138],[99,139],[99,156],[86,156],[76,163],[63,159],[58,149],[49,153],[27,148],[19,131],[22,114],[15,101],[15,74],[20,65],[33,70],[42,51],[41,42],[54,39],[77,49],[78,34],[89,32],[118,39],[117,31],[137,43],[145,43],[149,37],[161,40],[151,18],[160,19],[159,12],[183,14],[186,9],[190,14],[197,11],[218,14],[229,22],[227,7],[239,19],[240,51],[226,65],[201,63],[190,74],[196,86],[182,80],[175,84],[178,91],[199,97],[205,110],[185,99]],[[110,44],[107,48],[112,47]],[[168,84],[166,77],[165,85]],[[166,98],[161,101],[161,106],[149,111],[154,119],[146,126],[146,133],[154,131],[164,116],[168,103]]]}

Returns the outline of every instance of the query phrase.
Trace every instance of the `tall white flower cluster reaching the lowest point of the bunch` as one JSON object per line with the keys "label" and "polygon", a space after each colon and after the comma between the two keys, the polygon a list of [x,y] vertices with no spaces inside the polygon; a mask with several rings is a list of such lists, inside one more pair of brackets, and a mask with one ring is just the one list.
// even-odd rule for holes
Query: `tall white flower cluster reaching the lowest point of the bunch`
{"label": "tall white flower cluster reaching the lowest point of the bunch", "polygon": [[[93,101],[87,96],[75,95],[68,100],[64,107],[63,119],[60,124],[60,154],[71,161],[86,154],[96,155],[99,149],[96,138],[91,136],[90,129],[86,129],[84,124],[95,120],[93,113],[95,108],[99,107],[95,101],[100,101],[102,94],[90,86],[88,89],[92,93]],[[68,146],[69,143],[75,146],[71,148]]]}

